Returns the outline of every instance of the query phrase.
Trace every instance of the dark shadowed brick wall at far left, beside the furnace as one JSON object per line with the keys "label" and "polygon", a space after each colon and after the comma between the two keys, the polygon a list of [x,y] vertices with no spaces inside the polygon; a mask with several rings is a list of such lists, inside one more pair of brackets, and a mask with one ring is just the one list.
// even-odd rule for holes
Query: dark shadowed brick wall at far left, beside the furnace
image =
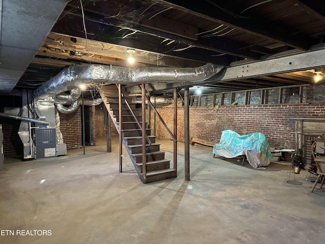
{"label": "dark shadowed brick wall at far left, beside the furnace", "polygon": [[18,135],[20,120],[0,117],[0,125],[4,134],[5,156],[23,157],[23,145]]}

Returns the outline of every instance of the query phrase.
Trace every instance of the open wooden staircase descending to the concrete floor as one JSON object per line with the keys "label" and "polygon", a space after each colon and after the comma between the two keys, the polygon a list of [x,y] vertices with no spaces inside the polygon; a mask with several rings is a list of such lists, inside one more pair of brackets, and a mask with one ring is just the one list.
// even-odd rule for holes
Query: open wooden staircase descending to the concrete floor
{"label": "open wooden staircase descending to the concrete floor", "polygon": [[[121,99],[122,123],[119,121],[119,89],[117,85],[110,84],[103,86],[100,93],[117,131],[121,133],[120,138],[122,143],[141,181],[146,184],[177,177],[177,170],[170,168],[170,160],[165,159],[165,151],[161,151],[160,144],[155,142],[156,136],[151,135],[151,129],[148,128],[148,123],[146,123],[146,137],[142,138],[141,104],[132,103],[132,98],[128,97],[124,86],[121,86],[121,91],[123,94]],[[119,128],[120,125],[122,125],[121,130]],[[146,140],[146,172],[143,172],[142,162],[143,140]]]}

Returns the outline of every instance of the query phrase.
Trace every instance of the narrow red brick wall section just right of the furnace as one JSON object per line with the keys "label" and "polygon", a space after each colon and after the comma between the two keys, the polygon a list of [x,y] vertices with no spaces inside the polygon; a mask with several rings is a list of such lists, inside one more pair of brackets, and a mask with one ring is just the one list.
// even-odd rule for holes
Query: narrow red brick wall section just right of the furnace
{"label": "narrow red brick wall section just right of the furnace", "polygon": [[71,114],[60,113],[60,130],[67,149],[82,147],[81,107]]}

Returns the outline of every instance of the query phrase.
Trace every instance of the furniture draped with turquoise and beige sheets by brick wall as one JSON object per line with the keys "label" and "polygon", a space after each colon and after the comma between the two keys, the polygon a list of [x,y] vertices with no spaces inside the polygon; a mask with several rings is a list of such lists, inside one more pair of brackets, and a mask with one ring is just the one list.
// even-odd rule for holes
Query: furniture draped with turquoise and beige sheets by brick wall
{"label": "furniture draped with turquoise and beige sheets by brick wall", "polygon": [[220,142],[213,146],[213,154],[224,158],[246,155],[247,161],[255,169],[268,166],[272,159],[269,142],[259,132],[241,136],[232,130],[225,130]]}

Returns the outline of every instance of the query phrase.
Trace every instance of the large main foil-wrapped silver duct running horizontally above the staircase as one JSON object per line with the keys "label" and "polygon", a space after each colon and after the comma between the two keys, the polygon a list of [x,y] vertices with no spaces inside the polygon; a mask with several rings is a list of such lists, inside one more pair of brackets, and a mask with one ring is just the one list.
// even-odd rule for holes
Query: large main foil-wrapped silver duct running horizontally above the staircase
{"label": "large main foil-wrapped silver duct running horizontally above the staircase", "polygon": [[85,83],[140,84],[150,82],[202,81],[222,70],[223,66],[206,64],[198,68],[148,67],[144,69],[106,65],[72,65],[37,88],[36,101],[49,101],[58,94]]}

